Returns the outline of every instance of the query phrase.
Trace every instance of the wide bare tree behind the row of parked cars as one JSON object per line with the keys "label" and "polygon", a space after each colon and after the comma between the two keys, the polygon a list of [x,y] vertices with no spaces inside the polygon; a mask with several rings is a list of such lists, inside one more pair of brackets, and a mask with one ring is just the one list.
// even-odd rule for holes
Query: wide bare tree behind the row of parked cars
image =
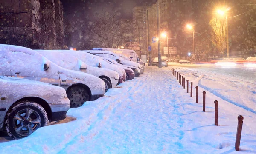
{"label": "wide bare tree behind the row of parked cars", "polygon": [[86,23],[81,31],[94,46],[105,48],[119,48],[135,38],[132,23],[119,19],[116,11],[96,13],[95,20]]}

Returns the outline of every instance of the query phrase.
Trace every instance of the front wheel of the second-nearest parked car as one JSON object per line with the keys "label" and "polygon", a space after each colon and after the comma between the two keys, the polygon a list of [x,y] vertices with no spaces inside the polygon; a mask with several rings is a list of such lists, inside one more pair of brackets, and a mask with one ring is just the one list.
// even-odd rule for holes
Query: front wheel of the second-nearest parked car
{"label": "front wheel of the second-nearest parked car", "polygon": [[67,90],[67,98],[70,100],[70,108],[76,108],[89,100],[89,93],[80,86],[74,86]]}

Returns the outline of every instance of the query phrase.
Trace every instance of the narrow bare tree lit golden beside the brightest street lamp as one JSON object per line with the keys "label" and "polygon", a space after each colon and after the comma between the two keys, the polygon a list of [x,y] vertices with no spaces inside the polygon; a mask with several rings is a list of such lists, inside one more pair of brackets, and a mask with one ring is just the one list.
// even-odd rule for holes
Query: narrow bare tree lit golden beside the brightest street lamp
{"label": "narrow bare tree lit golden beside the brightest street lamp", "polygon": [[213,17],[209,22],[212,27],[211,40],[214,46],[219,51],[219,54],[224,54],[224,46],[226,43],[226,21],[221,18]]}

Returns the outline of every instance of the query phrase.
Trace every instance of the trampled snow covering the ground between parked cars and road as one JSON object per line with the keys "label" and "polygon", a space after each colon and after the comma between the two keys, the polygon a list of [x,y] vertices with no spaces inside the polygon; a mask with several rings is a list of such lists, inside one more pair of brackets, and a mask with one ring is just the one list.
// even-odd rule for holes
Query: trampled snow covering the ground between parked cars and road
{"label": "trampled snow covering the ground between parked cars and road", "polygon": [[[0,154],[256,153],[255,80],[173,66],[199,86],[196,104],[195,88],[190,97],[172,76],[171,67],[147,67],[141,77],[109,89],[105,97],[70,109],[67,114],[75,121],[0,143]],[[202,112],[202,91],[207,92],[206,112]],[[219,102],[218,126],[214,100]],[[239,115],[244,116],[244,124],[237,152]]]}

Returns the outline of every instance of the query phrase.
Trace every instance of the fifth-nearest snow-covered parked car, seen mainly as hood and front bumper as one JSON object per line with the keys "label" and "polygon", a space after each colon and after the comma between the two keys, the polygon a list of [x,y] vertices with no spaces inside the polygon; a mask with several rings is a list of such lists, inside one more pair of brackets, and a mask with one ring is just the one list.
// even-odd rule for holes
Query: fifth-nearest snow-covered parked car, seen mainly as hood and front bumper
{"label": "fifth-nearest snow-covered parked car, seen mainly as hood and front bumper", "polygon": [[140,76],[140,70],[136,67],[119,64],[115,60],[112,60],[111,58],[103,57],[103,59],[107,60],[108,63],[112,63],[113,65],[118,65],[121,68],[123,68],[126,72],[126,80],[132,80],[134,77]]}

